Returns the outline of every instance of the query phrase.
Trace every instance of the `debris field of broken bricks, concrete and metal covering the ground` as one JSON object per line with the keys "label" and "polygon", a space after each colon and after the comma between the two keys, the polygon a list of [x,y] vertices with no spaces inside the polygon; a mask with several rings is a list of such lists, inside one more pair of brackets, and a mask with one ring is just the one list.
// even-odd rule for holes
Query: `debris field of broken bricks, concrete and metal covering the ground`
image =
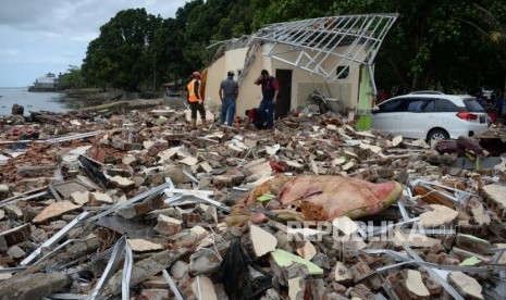
{"label": "debris field of broken bricks, concrete and metal covering the ground", "polygon": [[356,132],[353,114],[264,132],[187,117],[3,123],[0,299],[506,295],[504,163],[457,167],[452,145]]}

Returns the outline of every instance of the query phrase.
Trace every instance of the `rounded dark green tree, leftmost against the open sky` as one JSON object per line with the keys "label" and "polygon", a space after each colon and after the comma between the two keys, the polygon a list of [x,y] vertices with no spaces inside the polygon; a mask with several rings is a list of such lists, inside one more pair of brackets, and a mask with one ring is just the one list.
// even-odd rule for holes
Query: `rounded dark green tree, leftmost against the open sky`
{"label": "rounded dark green tree, leftmost against the open sky", "polygon": [[83,64],[87,80],[102,87],[137,91],[153,80],[158,62],[153,40],[162,18],[145,9],[119,12],[100,27],[100,35],[88,45]]}

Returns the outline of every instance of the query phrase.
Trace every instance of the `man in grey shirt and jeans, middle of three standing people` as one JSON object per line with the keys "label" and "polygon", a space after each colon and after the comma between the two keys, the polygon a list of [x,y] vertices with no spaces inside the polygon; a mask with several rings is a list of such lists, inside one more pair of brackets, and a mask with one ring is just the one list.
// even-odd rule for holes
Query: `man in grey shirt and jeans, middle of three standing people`
{"label": "man in grey shirt and jeans, middle of three standing people", "polygon": [[237,100],[237,95],[239,95],[239,86],[234,80],[234,71],[226,73],[226,79],[221,82],[219,91],[221,100],[220,124],[224,124],[225,116],[229,116],[226,122],[229,126],[232,126],[234,123],[235,101]]}

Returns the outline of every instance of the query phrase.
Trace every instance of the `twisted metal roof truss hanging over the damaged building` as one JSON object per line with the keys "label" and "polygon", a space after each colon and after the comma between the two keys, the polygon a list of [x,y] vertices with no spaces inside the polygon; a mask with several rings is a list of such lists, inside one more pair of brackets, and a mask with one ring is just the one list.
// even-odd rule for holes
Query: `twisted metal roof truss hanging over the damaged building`
{"label": "twisted metal roof truss hanging over the damaged building", "polygon": [[249,43],[266,41],[269,46],[264,55],[336,80],[361,64],[372,66],[397,16],[360,14],[276,23],[260,29]]}

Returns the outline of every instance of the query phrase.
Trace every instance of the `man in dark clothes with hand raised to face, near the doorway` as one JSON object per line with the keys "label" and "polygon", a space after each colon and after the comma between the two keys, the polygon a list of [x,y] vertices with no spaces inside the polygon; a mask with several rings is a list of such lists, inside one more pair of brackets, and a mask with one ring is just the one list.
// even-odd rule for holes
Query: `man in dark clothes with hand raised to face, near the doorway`
{"label": "man in dark clothes with hand raised to face, near the doorway", "polygon": [[280,92],[277,79],[270,76],[267,70],[262,70],[260,77],[255,80],[255,84],[261,85],[263,96],[257,110],[260,113],[267,111],[267,128],[272,129],[274,128],[275,104],[277,102],[277,93]]}

